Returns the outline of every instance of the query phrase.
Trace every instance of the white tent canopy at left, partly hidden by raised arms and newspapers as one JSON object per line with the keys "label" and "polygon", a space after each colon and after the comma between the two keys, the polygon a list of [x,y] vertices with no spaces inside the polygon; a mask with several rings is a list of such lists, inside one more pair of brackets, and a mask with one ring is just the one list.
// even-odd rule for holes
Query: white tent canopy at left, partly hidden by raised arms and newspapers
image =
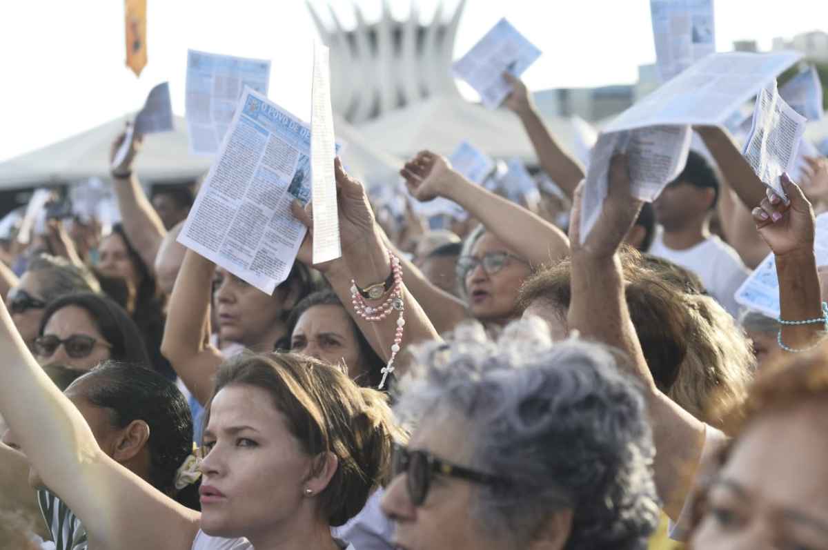
{"label": "white tent canopy at left, partly hidden by raised arms and newspapers", "polygon": [[[195,180],[209,170],[213,157],[191,155],[185,119],[173,118],[174,130],[144,137],[135,171],[143,183]],[[90,177],[107,180],[109,149],[126,118],[119,117],[83,133],[0,163],[0,189],[62,185]],[[342,118],[335,121],[336,136],[344,142],[347,169],[366,181],[383,181],[396,174],[400,159],[374,150]]]}

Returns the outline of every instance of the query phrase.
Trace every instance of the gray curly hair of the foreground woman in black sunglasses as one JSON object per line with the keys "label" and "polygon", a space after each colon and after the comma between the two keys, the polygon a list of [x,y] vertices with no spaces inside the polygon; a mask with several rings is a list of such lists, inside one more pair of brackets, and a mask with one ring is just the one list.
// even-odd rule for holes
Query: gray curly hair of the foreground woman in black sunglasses
{"label": "gray curly hair of the foreground woman in black sunglasses", "polygon": [[415,351],[396,413],[416,430],[440,413],[469,422],[474,468],[506,485],[480,486],[472,513],[494,537],[525,548],[549,515],[573,512],[568,550],[646,548],[659,504],[640,388],[618,355],[579,340],[552,345],[537,319],[498,341],[482,326]]}

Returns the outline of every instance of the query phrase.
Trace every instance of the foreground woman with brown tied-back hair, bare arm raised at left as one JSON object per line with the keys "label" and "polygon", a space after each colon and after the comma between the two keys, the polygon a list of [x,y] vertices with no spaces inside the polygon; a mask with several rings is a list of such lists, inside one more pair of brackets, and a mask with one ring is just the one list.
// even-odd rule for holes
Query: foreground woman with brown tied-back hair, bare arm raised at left
{"label": "foreground woman with brown tied-back hair, bare arm raised at left", "polygon": [[339,369],[297,355],[238,356],[219,369],[209,401],[199,514],[103,451],[5,307],[0,353],[0,413],[96,550],[346,548],[330,526],[363,508],[385,480],[392,442],[404,440],[383,394]]}

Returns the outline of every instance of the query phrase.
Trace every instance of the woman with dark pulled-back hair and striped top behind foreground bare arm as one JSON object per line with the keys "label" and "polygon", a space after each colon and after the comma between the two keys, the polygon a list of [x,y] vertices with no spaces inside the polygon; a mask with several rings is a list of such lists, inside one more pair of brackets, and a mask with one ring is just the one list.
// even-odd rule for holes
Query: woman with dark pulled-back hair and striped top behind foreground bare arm
{"label": "woman with dark pulled-back hair and striped top behind foreground bare arm", "polygon": [[[47,371],[48,372],[48,371]],[[76,377],[64,390],[92,428],[95,441],[113,461],[131,470],[142,480],[176,499],[190,509],[199,509],[193,450],[193,422],[181,392],[160,374],[135,364],[107,361],[84,373],[73,369],[60,374]],[[60,379],[55,379],[55,384]],[[2,442],[7,448],[25,452],[12,430]],[[8,453],[0,448],[0,460]],[[189,457],[189,460],[188,460]],[[25,457],[24,457],[25,461]],[[37,502],[51,540],[58,550],[82,550],[89,539],[84,523],[48,486],[36,468],[19,461],[2,469],[14,468],[21,479],[28,478],[29,489],[17,491],[18,499]],[[0,487],[6,493],[7,486]]]}

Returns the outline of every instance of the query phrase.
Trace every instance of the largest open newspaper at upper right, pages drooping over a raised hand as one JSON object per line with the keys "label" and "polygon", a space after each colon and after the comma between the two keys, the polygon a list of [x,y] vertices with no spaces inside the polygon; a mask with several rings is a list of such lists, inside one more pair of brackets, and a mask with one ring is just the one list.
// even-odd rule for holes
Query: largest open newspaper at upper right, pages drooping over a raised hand
{"label": "largest open newspaper at upper right, pages drooping over a raised hand", "polygon": [[586,239],[609,186],[609,160],[628,155],[633,195],[652,201],[684,168],[691,128],[724,126],[740,105],[802,57],[796,51],[708,55],[615,118],[590,157],[581,216]]}

